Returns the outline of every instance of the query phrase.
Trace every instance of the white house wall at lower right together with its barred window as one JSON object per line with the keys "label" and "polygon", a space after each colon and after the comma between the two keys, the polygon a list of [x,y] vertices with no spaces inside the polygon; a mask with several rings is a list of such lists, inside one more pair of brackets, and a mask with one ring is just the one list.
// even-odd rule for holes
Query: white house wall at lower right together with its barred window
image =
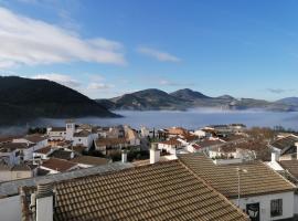
{"label": "white house wall at lower right together with its barred window", "polygon": [[[237,199],[231,201],[237,206]],[[249,208],[249,206],[256,208],[249,211],[251,215],[258,215],[259,219],[255,219],[256,221],[292,218],[295,214],[294,191],[241,198],[240,207],[242,210],[248,213],[247,207]],[[254,219],[252,220],[254,221]]]}

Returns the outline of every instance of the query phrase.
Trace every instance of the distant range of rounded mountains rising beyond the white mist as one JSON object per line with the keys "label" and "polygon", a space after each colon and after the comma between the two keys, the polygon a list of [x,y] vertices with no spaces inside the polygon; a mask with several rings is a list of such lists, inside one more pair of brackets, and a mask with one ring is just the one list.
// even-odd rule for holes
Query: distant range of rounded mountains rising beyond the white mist
{"label": "distant range of rounded mountains rising beyond the white mist", "polygon": [[[286,99],[287,101],[287,99]],[[298,105],[292,105],[294,97],[289,104],[278,102],[267,102],[254,98],[234,98],[230,95],[217,97],[206,96],[200,92],[189,88],[179,90],[170,94],[160,90],[143,90],[131,94],[125,94],[110,99],[97,99],[99,104],[108,109],[130,109],[130,110],[184,110],[188,108],[221,108],[221,109],[267,109],[275,112],[298,110]]]}

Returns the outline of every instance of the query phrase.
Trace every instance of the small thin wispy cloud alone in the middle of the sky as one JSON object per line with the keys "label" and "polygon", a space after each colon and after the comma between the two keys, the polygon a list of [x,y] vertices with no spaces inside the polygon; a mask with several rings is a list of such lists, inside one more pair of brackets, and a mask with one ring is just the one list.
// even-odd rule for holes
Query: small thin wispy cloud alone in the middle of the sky
{"label": "small thin wispy cloud alone in the middle of the sky", "polygon": [[181,59],[168,53],[168,52],[162,52],[156,49],[150,49],[147,46],[140,46],[137,49],[137,51],[141,54],[151,56],[153,59],[157,59],[160,62],[180,62]]}

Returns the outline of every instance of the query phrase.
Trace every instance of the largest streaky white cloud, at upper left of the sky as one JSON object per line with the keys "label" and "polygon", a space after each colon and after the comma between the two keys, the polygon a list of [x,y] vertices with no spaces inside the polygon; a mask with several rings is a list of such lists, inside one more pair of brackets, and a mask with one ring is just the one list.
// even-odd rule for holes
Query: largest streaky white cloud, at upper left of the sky
{"label": "largest streaky white cloud, at upper left of the sky", "polygon": [[125,64],[123,45],[106,39],[82,39],[57,25],[0,8],[0,67],[70,63]]}

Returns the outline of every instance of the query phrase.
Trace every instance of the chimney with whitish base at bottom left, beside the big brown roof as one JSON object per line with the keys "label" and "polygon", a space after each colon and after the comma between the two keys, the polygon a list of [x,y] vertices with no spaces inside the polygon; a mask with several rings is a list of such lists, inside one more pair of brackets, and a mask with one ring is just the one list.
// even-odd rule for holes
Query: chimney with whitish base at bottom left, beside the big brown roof
{"label": "chimney with whitish base at bottom left, beside the big brown roof", "polygon": [[53,183],[50,180],[38,183],[36,221],[53,221]]}

